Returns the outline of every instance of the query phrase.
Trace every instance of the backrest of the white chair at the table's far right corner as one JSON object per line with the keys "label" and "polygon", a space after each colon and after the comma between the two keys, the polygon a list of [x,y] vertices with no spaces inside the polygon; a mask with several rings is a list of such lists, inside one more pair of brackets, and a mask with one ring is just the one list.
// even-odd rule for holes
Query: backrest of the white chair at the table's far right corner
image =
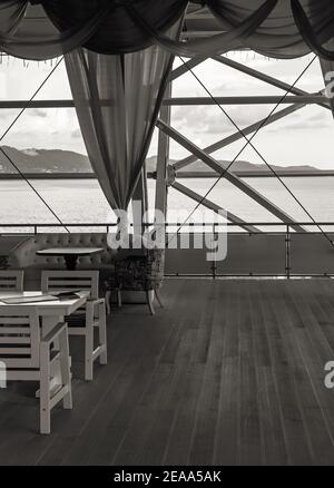
{"label": "backrest of the white chair at the table's far right corner", "polygon": [[66,290],[89,290],[90,299],[99,297],[99,272],[97,270],[46,270],[41,274],[41,290],[52,293]]}

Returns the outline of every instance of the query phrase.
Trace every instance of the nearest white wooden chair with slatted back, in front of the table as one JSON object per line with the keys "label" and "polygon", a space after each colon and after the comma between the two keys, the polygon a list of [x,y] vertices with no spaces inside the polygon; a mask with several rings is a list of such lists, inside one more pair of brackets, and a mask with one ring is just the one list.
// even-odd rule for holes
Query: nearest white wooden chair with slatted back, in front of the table
{"label": "nearest white wooden chair with slatted back, in front of the table", "polygon": [[[56,340],[58,351],[51,350]],[[6,365],[7,381],[39,381],[40,432],[50,433],[52,408],[60,400],[65,409],[72,408],[67,324],[59,323],[41,338],[35,306],[1,305],[0,361]],[[51,390],[51,377],[57,368],[61,384]]]}

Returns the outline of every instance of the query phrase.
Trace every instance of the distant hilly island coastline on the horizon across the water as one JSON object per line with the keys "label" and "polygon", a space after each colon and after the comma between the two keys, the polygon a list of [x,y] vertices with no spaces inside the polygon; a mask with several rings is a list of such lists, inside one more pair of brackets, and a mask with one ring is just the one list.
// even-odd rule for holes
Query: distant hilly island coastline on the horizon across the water
{"label": "distant hilly island coastline on the horizon across the water", "polygon": [[[92,168],[86,155],[75,153],[72,150],[61,149],[16,149],[10,146],[2,146],[4,153],[16,164],[24,175],[68,175],[68,174],[84,174],[89,176],[92,174]],[[170,164],[176,160],[170,159]],[[222,167],[229,165],[229,162],[219,160]],[[151,156],[146,160],[148,173],[156,170],[157,157]],[[279,175],[334,175],[334,170],[322,170],[313,166],[277,166],[273,165],[273,169]],[[196,173],[214,174],[214,172],[203,162],[191,163],[179,172],[180,176],[186,177],[187,173],[191,172],[196,177]],[[254,164],[246,160],[236,160],[232,168],[232,173],[238,176],[266,176],[272,175],[269,169],[264,164]],[[11,165],[9,159],[0,152],[0,177],[4,175],[12,175],[16,177],[17,170]]]}

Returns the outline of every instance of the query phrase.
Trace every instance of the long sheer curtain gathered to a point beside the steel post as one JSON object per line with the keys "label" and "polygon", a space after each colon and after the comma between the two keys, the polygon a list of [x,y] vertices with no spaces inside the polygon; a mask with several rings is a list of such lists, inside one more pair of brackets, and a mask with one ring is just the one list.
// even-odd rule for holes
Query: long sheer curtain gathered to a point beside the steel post
{"label": "long sheer curtain gathered to a point beside the steel post", "polygon": [[[169,29],[170,38],[177,38],[179,26]],[[153,46],[119,56],[79,49],[65,59],[94,170],[110,206],[127,209],[174,58]]]}

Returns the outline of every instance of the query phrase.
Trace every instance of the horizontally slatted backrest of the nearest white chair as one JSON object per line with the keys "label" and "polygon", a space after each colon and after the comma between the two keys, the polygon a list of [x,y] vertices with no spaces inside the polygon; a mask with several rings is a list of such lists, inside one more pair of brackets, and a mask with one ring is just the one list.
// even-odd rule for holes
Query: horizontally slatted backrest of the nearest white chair
{"label": "horizontally slatted backrest of the nearest white chair", "polygon": [[0,305],[0,361],[8,369],[39,368],[39,343],[36,306]]}

